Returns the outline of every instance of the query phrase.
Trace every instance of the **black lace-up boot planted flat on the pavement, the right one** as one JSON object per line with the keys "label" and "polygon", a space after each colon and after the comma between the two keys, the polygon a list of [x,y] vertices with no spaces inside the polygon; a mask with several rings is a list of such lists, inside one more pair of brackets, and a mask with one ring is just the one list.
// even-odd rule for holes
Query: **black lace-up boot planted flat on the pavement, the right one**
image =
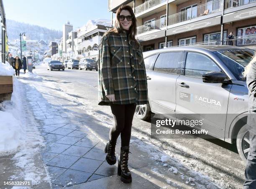
{"label": "black lace-up boot planted flat on the pavement, the right one", "polygon": [[128,169],[129,147],[121,147],[120,156],[118,158],[118,175],[124,183],[132,182],[131,172]]}

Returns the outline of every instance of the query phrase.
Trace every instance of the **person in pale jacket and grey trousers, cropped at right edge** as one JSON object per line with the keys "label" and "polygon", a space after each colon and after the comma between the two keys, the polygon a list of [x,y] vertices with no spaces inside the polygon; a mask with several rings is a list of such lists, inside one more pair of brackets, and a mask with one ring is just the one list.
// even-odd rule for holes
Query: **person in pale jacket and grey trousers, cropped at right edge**
{"label": "person in pale jacket and grey trousers, cropped at right edge", "polygon": [[243,189],[256,189],[256,53],[251,62],[245,67],[248,87],[248,117],[247,129],[250,132],[250,151],[248,152]]}

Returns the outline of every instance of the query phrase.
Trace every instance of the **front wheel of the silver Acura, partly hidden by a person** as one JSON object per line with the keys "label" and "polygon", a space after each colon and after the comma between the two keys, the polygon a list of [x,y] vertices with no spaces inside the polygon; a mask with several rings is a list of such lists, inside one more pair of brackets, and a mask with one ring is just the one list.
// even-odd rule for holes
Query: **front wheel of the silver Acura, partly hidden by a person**
{"label": "front wheel of the silver Acura, partly hidden by a person", "polygon": [[238,132],[236,138],[236,147],[241,159],[246,162],[250,150],[249,131],[244,125]]}

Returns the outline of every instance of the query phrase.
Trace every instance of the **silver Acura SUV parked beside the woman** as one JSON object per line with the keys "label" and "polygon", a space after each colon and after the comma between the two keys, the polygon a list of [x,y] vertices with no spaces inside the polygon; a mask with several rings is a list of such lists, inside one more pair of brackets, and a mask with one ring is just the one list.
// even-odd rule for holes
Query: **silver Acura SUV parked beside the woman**
{"label": "silver Acura SUV parked beside the woman", "polygon": [[246,161],[248,88],[242,73],[253,54],[243,47],[206,45],[143,52],[149,104],[138,105],[136,116],[145,120],[153,112],[169,119],[204,119],[194,129],[236,144]]}

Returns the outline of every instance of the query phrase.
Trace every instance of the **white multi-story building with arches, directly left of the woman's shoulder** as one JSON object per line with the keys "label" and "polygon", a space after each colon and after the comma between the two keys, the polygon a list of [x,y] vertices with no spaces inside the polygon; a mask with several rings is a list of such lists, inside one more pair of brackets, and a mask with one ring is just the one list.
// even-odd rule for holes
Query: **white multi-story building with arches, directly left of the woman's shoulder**
{"label": "white multi-story building with arches, directly left of the woman's shoulder", "polygon": [[77,39],[75,43],[76,54],[81,57],[86,57],[89,59],[98,60],[98,45],[100,45],[100,40],[103,34],[110,27],[104,25],[94,25],[89,29],[84,31],[79,31],[77,34]]}

